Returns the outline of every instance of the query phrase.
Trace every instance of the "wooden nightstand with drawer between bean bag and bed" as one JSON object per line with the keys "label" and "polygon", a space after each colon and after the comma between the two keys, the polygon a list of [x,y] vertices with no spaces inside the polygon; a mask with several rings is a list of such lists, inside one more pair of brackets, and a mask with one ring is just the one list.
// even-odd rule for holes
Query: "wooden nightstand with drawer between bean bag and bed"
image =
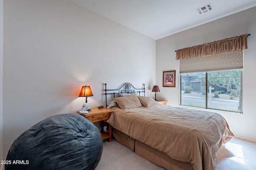
{"label": "wooden nightstand with drawer between bean bag and bed", "polygon": [[100,133],[102,135],[102,139],[103,140],[108,139],[108,141],[111,142],[112,141],[112,127],[108,123],[108,133],[106,131],[104,131],[104,120],[108,120],[112,111],[113,111],[112,109],[108,109],[108,108],[101,108],[101,109],[94,108],[94,109],[91,109],[91,111],[88,111],[87,114],[80,113],[80,111],[77,111],[77,113],[86,117],[92,123],[100,121],[100,126],[101,126]]}

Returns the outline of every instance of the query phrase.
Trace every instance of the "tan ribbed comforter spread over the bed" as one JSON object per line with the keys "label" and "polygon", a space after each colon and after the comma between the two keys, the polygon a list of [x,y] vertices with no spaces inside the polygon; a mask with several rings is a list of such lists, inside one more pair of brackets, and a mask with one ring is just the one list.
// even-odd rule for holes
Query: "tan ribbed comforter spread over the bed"
{"label": "tan ribbed comforter spread over the bed", "polygon": [[108,123],[176,160],[190,162],[194,170],[214,170],[222,140],[228,142],[234,137],[218,113],[161,104],[114,108]]}

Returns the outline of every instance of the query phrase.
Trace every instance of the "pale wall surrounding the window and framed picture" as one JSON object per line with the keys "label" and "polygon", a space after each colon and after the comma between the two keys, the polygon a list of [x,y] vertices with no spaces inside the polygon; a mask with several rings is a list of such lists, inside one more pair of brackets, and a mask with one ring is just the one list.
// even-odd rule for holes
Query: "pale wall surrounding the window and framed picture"
{"label": "pale wall surrounding the window and framed picture", "polygon": [[176,70],[176,88],[161,87],[158,98],[166,99],[168,105],[179,106],[179,61],[175,60],[177,49],[191,47],[228,37],[250,33],[248,49],[244,50],[244,113],[220,112],[234,133],[250,141],[256,141],[256,8],[250,8],[232,16],[200,25],[198,27],[156,41],[156,84],[162,86],[163,71]]}

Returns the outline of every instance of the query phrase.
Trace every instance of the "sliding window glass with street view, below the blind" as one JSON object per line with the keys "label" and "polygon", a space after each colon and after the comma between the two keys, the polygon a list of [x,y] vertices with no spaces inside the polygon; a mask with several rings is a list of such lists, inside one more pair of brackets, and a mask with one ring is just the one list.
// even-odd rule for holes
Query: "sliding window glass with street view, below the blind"
{"label": "sliding window glass with street view, below the blind", "polygon": [[181,105],[242,113],[242,69],[180,74]]}

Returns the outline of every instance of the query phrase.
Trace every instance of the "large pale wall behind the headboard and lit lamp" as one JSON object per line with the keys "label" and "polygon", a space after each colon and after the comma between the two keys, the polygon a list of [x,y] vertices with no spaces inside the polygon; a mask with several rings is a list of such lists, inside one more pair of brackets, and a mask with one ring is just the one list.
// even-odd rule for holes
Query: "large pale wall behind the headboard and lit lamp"
{"label": "large pale wall behind the headboard and lit lamp", "polygon": [[156,77],[156,41],[69,0],[5,0],[4,158],[22,132],[60,113],[76,113],[83,85],[104,105],[104,83],[146,84]]}

